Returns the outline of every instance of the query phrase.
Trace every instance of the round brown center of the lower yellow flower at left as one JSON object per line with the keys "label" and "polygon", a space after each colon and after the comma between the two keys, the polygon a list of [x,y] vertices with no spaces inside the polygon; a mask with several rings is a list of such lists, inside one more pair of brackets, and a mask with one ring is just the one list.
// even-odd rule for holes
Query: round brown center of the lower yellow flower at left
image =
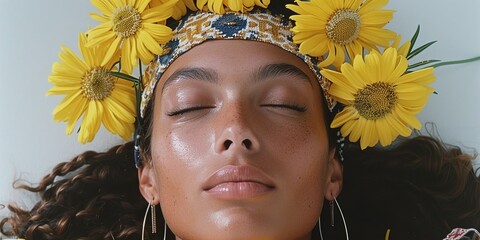
{"label": "round brown center of the lower yellow flower at left", "polygon": [[102,100],[110,95],[115,79],[107,70],[95,67],[83,76],[82,90],[88,100]]}

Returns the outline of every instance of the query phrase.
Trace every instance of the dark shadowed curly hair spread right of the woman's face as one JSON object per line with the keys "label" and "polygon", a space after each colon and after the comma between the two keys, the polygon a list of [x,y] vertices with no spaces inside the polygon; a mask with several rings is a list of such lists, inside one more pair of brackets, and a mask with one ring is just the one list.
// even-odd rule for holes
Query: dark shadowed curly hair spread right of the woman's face
{"label": "dark shadowed curly hair spread right of the woman's face", "polygon": [[[459,147],[427,136],[391,149],[346,149],[338,202],[353,239],[443,239],[453,228],[480,229],[480,177]],[[329,213],[329,206],[324,211]],[[327,214],[328,215],[328,214]],[[323,221],[343,239],[343,222]],[[327,238],[328,239],[328,238]]]}

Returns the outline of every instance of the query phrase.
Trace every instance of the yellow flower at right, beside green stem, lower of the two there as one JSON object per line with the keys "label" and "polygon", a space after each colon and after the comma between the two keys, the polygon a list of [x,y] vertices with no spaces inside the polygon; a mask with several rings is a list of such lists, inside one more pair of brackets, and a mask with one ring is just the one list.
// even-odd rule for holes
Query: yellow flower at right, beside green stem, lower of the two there
{"label": "yellow flower at right, beside green stem, lower of the two there", "polygon": [[321,73],[332,82],[329,94],[345,105],[332,121],[341,126],[342,136],[351,142],[360,139],[360,146],[382,146],[398,135],[409,136],[412,127],[421,128],[415,117],[428,101],[435,81],[433,68],[406,73],[407,59],[395,48],[383,54],[372,51],[363,60],[357,55],[341,66],[341,72],[324,69]]}

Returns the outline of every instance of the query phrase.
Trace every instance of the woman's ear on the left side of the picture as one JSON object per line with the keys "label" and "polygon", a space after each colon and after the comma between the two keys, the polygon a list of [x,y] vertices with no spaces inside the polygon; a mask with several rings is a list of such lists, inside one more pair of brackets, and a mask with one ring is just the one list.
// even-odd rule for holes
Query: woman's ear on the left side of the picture
{"label": "woman's ear on the left side of the picture", "polygon": [[153,164],[145,164],[138,169],[138,182],[140,193],[143,198],[151,204],[158,204],[158,191],[157,184],[155,181],[155,170],[153,169]]}

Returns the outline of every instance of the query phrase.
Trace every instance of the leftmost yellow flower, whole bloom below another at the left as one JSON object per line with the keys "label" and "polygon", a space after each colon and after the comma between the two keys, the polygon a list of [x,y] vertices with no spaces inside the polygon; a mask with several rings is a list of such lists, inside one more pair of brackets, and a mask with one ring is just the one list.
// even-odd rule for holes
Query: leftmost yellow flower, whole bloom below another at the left
{"label": "leftmost yellow flower, whole bloom below another at the left", "polygon": [[115,58],[108,58],[105,48],[87,48],[86,44],[87,37],[80,34],[79,48],[83,59],[62,47],[61,62],[53,64],[48,81],[54,87],[47,95],[66,95],[53,111],[54,120],[67,122],[66,133],[71,134],[83,115],[78,135],[81,143],[91,142],[101,123],[110,132],[129,140],[135,122],[132,83],[108,73]]}

